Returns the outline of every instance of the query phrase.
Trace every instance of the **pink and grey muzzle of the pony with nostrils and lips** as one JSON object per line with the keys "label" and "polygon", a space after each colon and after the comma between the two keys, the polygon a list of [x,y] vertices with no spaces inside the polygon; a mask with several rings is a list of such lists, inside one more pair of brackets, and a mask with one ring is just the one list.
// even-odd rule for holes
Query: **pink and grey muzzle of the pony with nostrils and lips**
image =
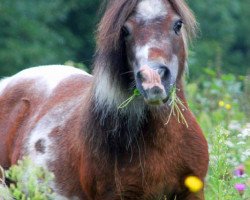
{"label": "pink and grey muzzle of the pony with nostrils and lips", "polygon": [[146,103],[161,105],[168,100],[170,72],[166,67],[141,67],[136,74],[136,83]]}

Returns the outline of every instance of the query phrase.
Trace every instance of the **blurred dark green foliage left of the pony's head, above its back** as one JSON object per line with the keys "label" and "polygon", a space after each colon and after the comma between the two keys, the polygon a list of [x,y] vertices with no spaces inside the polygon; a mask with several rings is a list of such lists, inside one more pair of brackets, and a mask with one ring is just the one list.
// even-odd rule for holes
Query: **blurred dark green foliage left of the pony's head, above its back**
{"label": "blurred dark green foliage left of the pony's head, above its back", "polygon": [[[0,75],[36,65],[91,60],[96,1],[89,2],[2,0]],[[83,49],[88,51],[83,54]]]}

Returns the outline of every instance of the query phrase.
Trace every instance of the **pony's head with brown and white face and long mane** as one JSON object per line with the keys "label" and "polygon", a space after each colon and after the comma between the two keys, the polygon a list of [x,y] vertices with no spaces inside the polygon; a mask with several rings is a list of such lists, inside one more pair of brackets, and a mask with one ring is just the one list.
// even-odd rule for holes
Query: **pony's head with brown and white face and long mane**
{"label": "pony's head with brown and white face and long mane", "polygon": [[114,87],[136,87],[147,104],[162,105],[181,79],[195,27],[183,0],[113,0],[99,26],[97,55]]}

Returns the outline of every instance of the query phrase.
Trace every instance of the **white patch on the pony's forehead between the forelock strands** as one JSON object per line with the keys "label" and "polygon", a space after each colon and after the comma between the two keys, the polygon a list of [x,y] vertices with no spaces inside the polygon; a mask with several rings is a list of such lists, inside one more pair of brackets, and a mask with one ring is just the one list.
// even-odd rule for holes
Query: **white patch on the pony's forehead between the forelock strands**
{"label": "white patch on the pony's forehead between the forelock strands", "polygon": [[142,0],[136,8],[136,18],[151,21],[167,15],[166,5],[162,0]]}

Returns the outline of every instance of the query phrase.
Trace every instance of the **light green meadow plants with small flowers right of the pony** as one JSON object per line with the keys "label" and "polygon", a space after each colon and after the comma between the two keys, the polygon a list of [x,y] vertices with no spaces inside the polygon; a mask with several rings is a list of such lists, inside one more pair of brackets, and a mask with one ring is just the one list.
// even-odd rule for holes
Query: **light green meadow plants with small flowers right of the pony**
{"label": "light green meadow plants with small flowers right of the pony", "polygon": [[[209,143],[208,200],[250,198],[250,121],[245,112],[248,84],[247,77],[219,75],[204,68],[196,82],[187,85],[189,106]],[[233,173],[238,166],[245,168],[241,176]],[[246,189],[240,194],[236,184],[246,185]]]}

